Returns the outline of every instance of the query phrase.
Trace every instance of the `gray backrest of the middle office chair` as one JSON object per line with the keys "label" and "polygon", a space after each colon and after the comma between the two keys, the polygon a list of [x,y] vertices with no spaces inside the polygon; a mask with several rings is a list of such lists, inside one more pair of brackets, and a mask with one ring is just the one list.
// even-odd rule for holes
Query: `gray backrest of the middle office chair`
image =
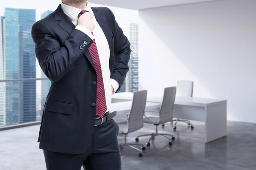
{"label": "gray backrest of the middle office chair", "polygon": [[176,87],[164,89],[163,102],[159,112],[160,124],[172,121],[175,96]]}

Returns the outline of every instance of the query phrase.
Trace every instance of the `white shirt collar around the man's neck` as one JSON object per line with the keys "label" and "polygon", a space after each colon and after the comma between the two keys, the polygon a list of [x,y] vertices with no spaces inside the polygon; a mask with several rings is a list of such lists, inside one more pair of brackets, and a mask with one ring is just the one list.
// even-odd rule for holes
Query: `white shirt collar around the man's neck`
{"label": "white shirt collar around the man's neck", "polygon": [[[78,17],[79,13],[81,12],[81,9],[73,7],[73,6],[68,6],[64,3],[61,3],[61,8],[63,12],[70,17],[71,20],[76,20],[76,17]],[[91,14],[93,14],[93,10],[90,7],[89,2],[87,1],[87,6],[84,8],[84,10],[89,11]],[[93,14],[94,16],[94,14]]]}

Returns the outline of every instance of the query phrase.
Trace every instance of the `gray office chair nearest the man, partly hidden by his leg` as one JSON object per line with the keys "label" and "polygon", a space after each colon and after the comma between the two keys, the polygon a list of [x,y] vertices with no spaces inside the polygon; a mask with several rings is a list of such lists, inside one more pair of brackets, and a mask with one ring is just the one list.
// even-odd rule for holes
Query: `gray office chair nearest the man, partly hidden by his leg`
{"label": "gray office chair nearest the man, partly hidden by his leg", "polygon": [[[134,92],[131,111],[128,115],[127,124],[126,125],[118,124],[119,132],[125,135],[124,143],[119,143],[120,149],[124,148],[125,146],[128,146],[135,150],[141,151],[140,149],[138,149],[137,147],[134,147],[133,145],[141,146],[142,150],[146,149],[146,147],[143,146],[143,144],[127,143],[127,140],[126,140],[126,136],[128,135],[128,133],[135,132],[137,130],[140,130],[143,127],[143,115],[145,111],[146,100],[147,100],[146,90]],[[143,153],[140,152],[139,156],[142,157]]]}

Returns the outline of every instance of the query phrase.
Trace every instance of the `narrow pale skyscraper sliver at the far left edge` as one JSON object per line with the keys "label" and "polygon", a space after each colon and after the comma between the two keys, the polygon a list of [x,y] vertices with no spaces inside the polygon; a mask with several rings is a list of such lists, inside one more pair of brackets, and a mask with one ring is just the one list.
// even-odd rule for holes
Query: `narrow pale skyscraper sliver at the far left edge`
{"label": "narrow pale skyscraper sliver at the far left edge", "polygon": [[[0,80],[3,79],[3,20],[0,16]],[[4,82],[0,82],[0,127],[6,124],[4,114]]]}

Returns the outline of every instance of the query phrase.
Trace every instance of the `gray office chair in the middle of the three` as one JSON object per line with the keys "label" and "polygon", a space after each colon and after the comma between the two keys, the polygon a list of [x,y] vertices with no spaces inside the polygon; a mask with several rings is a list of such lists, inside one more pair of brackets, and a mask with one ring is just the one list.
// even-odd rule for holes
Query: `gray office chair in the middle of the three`
{"label": "gray office chair in the middle of the three", "polygon": [[[175,140],[175,137],[171,134],[158,133],[157,127],[158,125],[172,121],[175,95],[176,95],[176,87],[165,88],[164,95],[163,95],[163,102],[159,111],[145,111],[145,112],[155,112],[159,114],[159,116],[145,116],[144,114],[144,122],[155,125],[156,132],[137,136],[137,138],[135,139],[136,141],[139,141],[139,137],[141,136],[151,136],[151,138],[148,140],[148,143],[146,143],[147,146],[150,146],[150,141],[154,139],[155,136],[162,136],[164,138],[169,139],[169,145],[172,145],[172,141]],[[170,139],[167,136],[172,136],[172,138]]]}

